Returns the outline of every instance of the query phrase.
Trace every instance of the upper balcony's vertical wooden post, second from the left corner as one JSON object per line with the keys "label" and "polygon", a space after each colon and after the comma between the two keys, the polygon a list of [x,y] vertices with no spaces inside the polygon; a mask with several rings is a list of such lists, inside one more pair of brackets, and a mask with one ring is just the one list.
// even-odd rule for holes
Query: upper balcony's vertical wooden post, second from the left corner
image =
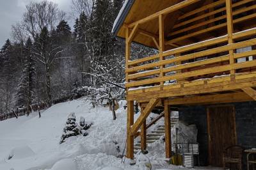
{"label": "upper balcony's vertical wooden post, second from the left corner", "polygon": [[[159,15],[159,61],[163,61],[163,52],[164,52],[164,17]],[[163,65],[160,65],[160,77],[164,76]],[[161,86],[164,85],[164,82],[161,82]]]}

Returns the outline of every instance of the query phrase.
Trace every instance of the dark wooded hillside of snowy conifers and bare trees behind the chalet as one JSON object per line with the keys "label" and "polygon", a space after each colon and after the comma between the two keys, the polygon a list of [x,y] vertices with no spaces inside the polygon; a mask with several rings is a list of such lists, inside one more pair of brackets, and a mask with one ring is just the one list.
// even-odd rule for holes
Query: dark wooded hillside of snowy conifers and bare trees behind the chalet
{"label": "dark wooded hillside of snowy conifers and bare trees behind the chalet", "polygon": [[[0,49],[0,114],[72,95],[83,86],[124,86],[125,45],[111,29],[120,0],[72,0],[73,26],[51,1],[26,5]],[[12,40],[12,42],[10,41]],[[132,58],[155,51],[132,44]]]}

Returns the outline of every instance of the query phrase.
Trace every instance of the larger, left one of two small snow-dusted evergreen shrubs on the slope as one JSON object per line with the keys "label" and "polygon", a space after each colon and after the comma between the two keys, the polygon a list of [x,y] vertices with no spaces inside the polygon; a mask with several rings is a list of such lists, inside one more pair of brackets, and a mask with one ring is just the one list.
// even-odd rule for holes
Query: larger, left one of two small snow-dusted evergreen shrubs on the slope
{"label": "larger, left one of two small snow-dusted evergreen shrubs on the slope", "polygon": [[70,136],[79,135],[79,128],[76,123],[76,114],[74,112],[68,115],[68,120],[66,122],[65,128],[63,128],[63,134],[61,135],[60,144],[64,143],[65,140]]}

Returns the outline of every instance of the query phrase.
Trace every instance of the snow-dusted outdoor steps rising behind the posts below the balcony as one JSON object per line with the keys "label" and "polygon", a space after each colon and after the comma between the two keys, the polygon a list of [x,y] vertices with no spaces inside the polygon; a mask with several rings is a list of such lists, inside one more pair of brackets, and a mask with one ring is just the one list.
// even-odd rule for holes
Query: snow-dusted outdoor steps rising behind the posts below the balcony
{"label": "snow-dusted outdoor steps rising behind the posts below the balcony", "polygon": [[[173,128],[177,121],[179,121],[179,118],[171,118],[171,128]],[[156,141],[159,141],[161,136],[164,134],[164,125],[159,125],[156,130],[153,130],[152,132],[147,134],[147,145],[150,143],[154,143]],[[138,143],[134,144],[134,154],[138,153],[141,148],[141,141],[138,141]]]}

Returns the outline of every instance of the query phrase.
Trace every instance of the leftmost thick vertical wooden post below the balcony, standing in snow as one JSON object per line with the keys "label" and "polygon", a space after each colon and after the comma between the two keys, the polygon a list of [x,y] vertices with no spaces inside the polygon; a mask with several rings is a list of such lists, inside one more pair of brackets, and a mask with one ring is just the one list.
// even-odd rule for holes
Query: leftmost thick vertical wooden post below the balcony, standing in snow
{"label": "leftmost thick vertical wooden post below the balcony, standing in snow", "polygon": [[134,135],[131,134],[131,126],[134,122],[134,104],[133,101],[127,101],[127,150],[126,157],[134,158]]}

